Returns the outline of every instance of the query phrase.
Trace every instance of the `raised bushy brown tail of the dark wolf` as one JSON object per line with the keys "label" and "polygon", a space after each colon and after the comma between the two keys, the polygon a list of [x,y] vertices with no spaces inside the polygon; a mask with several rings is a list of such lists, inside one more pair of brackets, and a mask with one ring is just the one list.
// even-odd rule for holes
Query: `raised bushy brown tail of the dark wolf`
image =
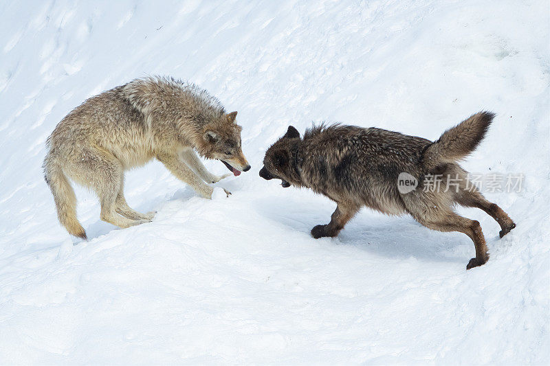
{"label": "raised bushy brown tail of the dark wolf", "polygon": [[446,130],[424,150],[421,160],[423,165],[426,168],[435,168],[441,163],[454,163],[464,159],[483,140],[493,118],[494,113],[479,112]]}

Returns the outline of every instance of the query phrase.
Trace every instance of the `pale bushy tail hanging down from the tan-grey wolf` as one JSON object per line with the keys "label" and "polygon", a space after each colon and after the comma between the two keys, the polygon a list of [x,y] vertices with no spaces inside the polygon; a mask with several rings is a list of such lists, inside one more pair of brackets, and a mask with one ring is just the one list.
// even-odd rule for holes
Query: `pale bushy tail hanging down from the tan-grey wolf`
{"label": "pale bushy tail hanging down from the tan-grey wolf", "polygon": [[[47,159],[47,158],[46,158]],[[67,176],[55,163],[44,162],[44,178],[50,186],[57,208],[57,217],[69,234],[87,240],[86,231],[76,218],[76,196]]]}

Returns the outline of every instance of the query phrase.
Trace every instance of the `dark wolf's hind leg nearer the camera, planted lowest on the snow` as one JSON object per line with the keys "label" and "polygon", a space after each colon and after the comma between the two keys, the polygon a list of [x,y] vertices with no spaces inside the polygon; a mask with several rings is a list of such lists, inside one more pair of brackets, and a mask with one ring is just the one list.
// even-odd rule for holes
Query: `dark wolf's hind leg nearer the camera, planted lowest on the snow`
{"label": "dark wolf's hind leg nearer the camera, planted lowest on the snow", "polygon": [[478,221],[459,216],[450,209],[448,211],[431,212],[429,216],[413,215],[413,217],[429,229],[437,231],[459,231],[469,236],[476,247],[476,258],[472,258],[470,262],[468,262],[466,269],[481,266],[489,260],[487,244],[485,243],[485,237],[483,236],[483,231],[481,231],[481,226]]}

